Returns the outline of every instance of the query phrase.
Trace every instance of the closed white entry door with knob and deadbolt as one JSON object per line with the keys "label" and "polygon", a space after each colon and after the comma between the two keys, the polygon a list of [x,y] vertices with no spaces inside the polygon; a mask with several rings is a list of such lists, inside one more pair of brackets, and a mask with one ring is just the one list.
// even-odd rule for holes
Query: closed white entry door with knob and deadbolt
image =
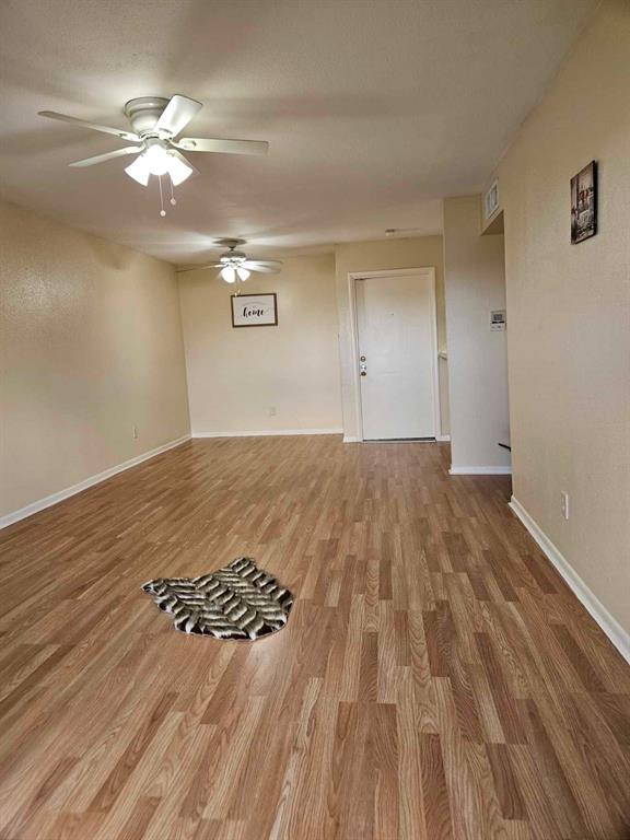
{"label": "closed white entry door with knob and deadbolt", "polygon": [[363,439],[435,438],[433,271],[355,289]]}

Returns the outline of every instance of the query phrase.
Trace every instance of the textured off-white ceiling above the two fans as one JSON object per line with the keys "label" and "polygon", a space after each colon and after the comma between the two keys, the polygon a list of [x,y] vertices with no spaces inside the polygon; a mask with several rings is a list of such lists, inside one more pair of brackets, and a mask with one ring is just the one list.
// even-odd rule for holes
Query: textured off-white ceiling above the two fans
{"label": "textured off-white ceiling above the two fans", "polygon": [[[261,254],[441,229],[444,196],[483,186],[595,0],[3,0],[5,198],[165,259],[218,236]],[[268,158],[197,154],[159,215],[112,161],[124,103],[205,103],[186,133],[268,140]]]}

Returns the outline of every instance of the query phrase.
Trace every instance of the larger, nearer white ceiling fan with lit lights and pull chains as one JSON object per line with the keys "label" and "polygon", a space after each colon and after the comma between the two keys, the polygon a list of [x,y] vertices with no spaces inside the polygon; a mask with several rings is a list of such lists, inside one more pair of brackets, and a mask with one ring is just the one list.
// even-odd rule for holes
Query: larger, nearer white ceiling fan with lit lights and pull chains
{"label": "larger, nearer white ceiling fan with lit lights and pull chains", "polygon": [[[224,154],[266,154],[269,143],[261,140],[221,140],[217,138],[182,137],[177,135],[188,125],[195,115],[202,108],[200,102],[188,96],[176,94],[170,100],[161,96],[140,96],[129,100],[125,105],[125,115],[131,124],[131,131],[110,126],[101,126],[97,122],[89,122],[78,117],[58,114],[55,110],[40,110],[40,117],[58,119],[61,122],[71,122],[93,131],[102,131],[114,135],[120,140],[127,140],[136,145],[126,145],[94,158],[85,158],[74,161],[70,166],[93,166],[115,158],[128,154],[139,155],[133,163],[125,168],[127,175],[145,187],[150,175],[160,178],[160,192],[162,194],[162,175],[168,175],[171,184],[177,186],[186,180],[197,170],[182,154],[184,152],[221,152]],[[182,150],[182,151],[180,151]],[[171,203],[175,203],[172,197]],[[165,215],[162,202],[161,215]]]}

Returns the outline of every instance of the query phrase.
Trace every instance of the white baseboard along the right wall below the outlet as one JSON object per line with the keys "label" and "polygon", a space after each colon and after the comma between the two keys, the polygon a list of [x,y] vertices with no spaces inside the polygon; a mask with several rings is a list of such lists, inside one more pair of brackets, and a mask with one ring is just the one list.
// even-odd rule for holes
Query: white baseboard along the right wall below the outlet
{"label": "white baseboard along the right wall below the outlet", "polygon": [[602,630],[604,630],[621,656],[630,663],[630,633],[626,632],[617,619],[610,615],[604,604],[602,604],[597,596],[584,583],[582,578],[580,578],[567,558],[556,548],[545,532],[537,525],[521,502],[514,497],[512,497],[510,508],[542,549],[547,559],[558,570],[569,585],[569,588],[588,610]]}

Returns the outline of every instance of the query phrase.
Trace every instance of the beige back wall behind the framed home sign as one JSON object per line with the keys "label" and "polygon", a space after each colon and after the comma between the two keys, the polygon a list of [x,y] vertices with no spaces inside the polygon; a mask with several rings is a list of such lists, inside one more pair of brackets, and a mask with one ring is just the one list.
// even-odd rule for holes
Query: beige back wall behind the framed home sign
{"label": "beige back wall behind the framed home sign", "polygon": [[338,430],[332,255],[293,257],[279,275],[247,280],[245,292],[278,294],[277,327],[234,329],[233,291],[215,271],[179,276],[192,432]]}

